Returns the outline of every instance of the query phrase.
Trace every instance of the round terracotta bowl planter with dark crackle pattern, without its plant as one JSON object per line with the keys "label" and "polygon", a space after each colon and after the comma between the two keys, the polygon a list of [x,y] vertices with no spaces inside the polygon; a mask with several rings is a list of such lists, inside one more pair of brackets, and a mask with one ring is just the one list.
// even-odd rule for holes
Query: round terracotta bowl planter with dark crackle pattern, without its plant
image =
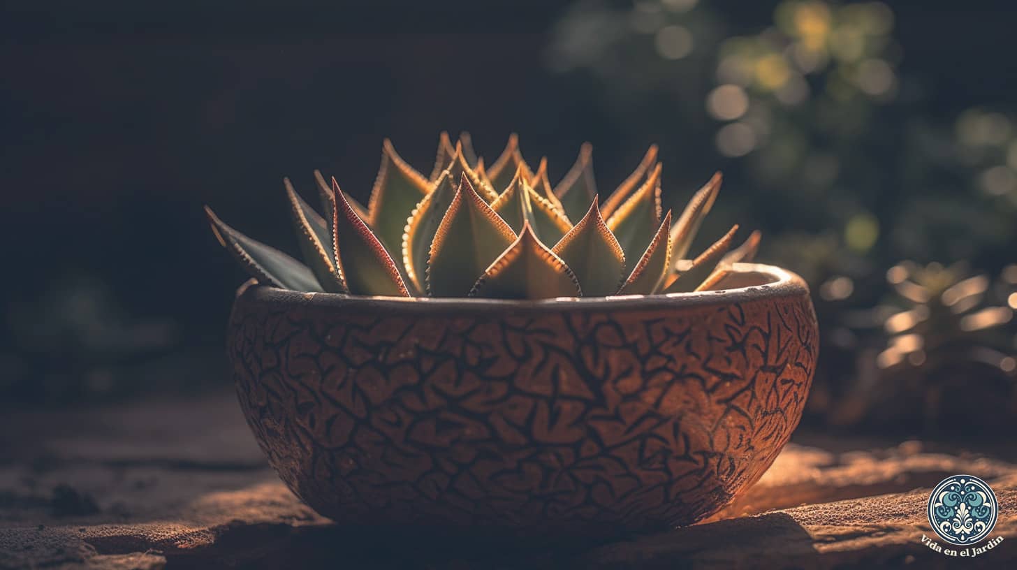
{"label": "round terracotta bowl planter with dark crackle pattern, without its plant", "polygon": [[715,513],[801,416],[809,290],[504,301],[238,292],[240,404],[280,476],[350,525],[602,535]]}

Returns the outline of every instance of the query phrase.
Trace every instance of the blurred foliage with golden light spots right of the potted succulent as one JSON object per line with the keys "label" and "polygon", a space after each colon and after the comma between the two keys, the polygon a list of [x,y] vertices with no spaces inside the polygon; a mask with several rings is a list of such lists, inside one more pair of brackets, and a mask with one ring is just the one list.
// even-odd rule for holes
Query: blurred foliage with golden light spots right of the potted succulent
{"label": "blurred foliage with golden light spots right of the potted succulent", "polygon": [[725,15],[708,0],[582,0],[548,64],[683,164],[721,164],[718,209],[753,220],[761,259],[810,282],[823,327],[811,420],[1017,423],[1017,298],[991,291],[1017,271],[1013,120],[922,112],[935,87],[902,66],[888,4],[783,0],[749,34]]}

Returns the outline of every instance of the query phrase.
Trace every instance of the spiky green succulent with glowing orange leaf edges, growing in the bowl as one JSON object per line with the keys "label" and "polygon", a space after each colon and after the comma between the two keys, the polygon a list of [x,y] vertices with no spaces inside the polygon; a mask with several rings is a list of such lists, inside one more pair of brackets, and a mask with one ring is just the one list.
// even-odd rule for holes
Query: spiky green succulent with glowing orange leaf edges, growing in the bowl
{"label": "spiky green succulent with glowing orange leaf edges, growing in the bowl", "polygon": [[248,273],[298,291],[514,299],[671,293],[715,287],[733,263],[755,255],[759,232],[732,248],[734,226],[680,262],[717,197],[720,173],[672,223],[661,212],[656,146],[603,203],[591,155],[583,145],[552,186],[546,159],[532,169],[515,134],[485,166],[468,133],[453,146],[442,132],[429,176],[385,139],[367,207],[315,171],[322,216],[284,180],[307,265],[205,212]]}

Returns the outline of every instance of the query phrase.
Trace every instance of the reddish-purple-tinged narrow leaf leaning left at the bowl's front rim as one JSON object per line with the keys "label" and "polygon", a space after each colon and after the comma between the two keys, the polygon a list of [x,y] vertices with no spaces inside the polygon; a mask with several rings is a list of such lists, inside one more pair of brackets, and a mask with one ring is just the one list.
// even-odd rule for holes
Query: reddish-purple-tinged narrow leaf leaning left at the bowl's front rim
{"label": "reddish-purple-tinged narrow leaf leaning left at the bowl's front rim", "polygon": [[350,206],[335,178],[332,179],[332,189],[336,196],[336,209],[333,210],[336,267],[346,277],[350,292],[355,295],[410,296],[396,262]]}

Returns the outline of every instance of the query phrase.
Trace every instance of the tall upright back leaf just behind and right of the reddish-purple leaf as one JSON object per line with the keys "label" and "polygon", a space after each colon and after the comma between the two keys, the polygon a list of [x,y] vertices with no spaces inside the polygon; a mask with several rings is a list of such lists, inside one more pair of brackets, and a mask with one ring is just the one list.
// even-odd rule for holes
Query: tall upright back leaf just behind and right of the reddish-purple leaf
{"label": "tall upright back leaf just behind and right of the reddish-purple leaf", "polygon": [[385,138],[381,146],[381,166],[367,205],[367,225],[390,250],[399,250],[410,212],[429,191],[427,179],[400,158],[392,141]]}

